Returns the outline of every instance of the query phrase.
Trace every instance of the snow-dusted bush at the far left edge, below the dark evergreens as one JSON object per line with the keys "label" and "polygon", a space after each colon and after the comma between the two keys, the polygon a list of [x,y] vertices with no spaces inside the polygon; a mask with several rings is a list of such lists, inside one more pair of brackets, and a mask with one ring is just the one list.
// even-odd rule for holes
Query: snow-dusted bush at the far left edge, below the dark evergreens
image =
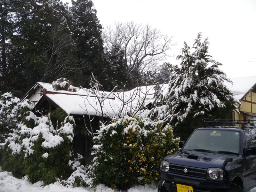
{"label": "snow-dusted bush at the far left edge, below the dark evergreens", "polygon": [[[7,100],[4,100],[4,98]],[[3,102],[4,100],[4,102]],[[8,169],[12,171],[12,173],[21,177],[21,169],[22,169],[22,158],[17,154],[20,153],[20,148],[16,145],[14,141],[22,140],[22,137],[18,134],[18,125],[20,121],[27,122],[30,126],[34,126],[35,122],[29,121],[26,116],[29,115],[29,110],[33,108],[32,103],[29,100],[25,100],[23,102],[19,102],[20,100],[16,97],[13,97],[10,93],[4,93],[2,95],[1,103],[1,121],[3,124],[3,128],[5,129],[5,134],[2,136],[2,140],[0,142],[0,147],[3,150],[0,150],[0,163],[3,169]],[[12,143],[10,143],[12,141]],[[10,148],[5,145],[6,143],[11,144]],[[17,148],[16,148],[17,147]],[[8,150],[9,149],[9,150]]]}

